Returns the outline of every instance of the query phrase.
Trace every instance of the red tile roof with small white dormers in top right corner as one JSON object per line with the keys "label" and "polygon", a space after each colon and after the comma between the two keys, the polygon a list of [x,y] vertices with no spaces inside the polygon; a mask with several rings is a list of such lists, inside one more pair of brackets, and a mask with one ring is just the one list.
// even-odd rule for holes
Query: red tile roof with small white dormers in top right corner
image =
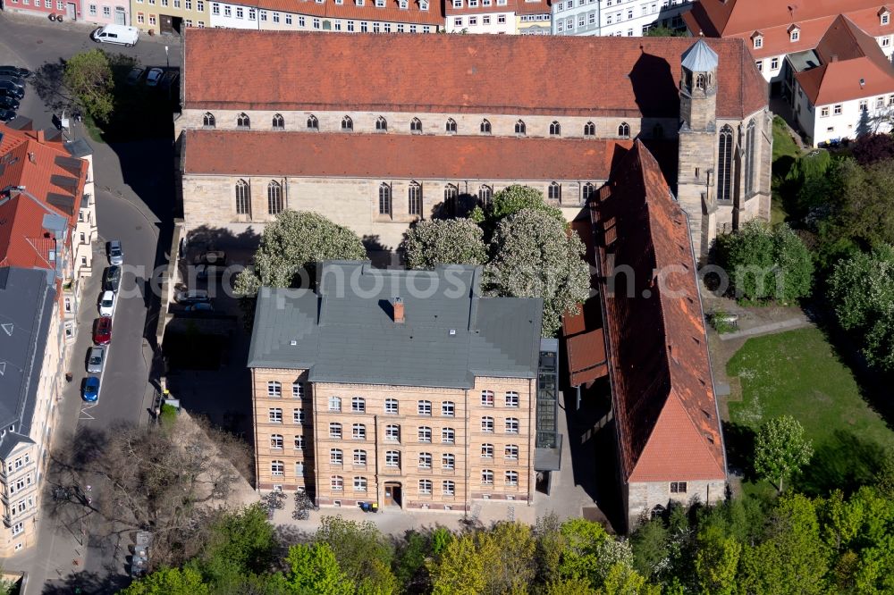
{"label": "red tile roof with small white dormers in top right corner", "polygon": [[[814,0],[789,13],[792,5],[762,0],[700,0],[683,15],[683,21],[696,36],[704,33],[710,38],[750,40],[759,32],[763,46],[755,48],[750,41],[747,44],[757,59],[813,49],[839,14],[874,37],[894,34],[894,20],[881,24],[877,0]],[[800,29],[797,41],[789,36],[794,24]]]}

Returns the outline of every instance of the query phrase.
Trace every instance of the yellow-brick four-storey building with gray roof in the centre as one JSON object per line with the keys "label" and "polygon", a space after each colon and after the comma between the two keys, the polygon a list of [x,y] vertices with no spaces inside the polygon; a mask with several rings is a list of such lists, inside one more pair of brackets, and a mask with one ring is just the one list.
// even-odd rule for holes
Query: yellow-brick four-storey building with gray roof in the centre
{"label": "yellow-brick four-storey building with gray roof in the centre", "polygon": [[543,302],[485,298],[481,273],[327,262],[316,289],[262,289],[257,488],[335,507],[531,504]]}

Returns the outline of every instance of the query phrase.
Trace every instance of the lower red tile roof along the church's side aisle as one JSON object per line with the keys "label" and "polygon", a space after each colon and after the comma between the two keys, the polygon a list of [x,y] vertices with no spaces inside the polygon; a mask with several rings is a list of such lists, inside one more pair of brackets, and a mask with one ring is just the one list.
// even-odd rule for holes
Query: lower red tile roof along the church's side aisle
{"label": "lower red tile roof along the church's side aisle", "polygon": [[[607,180],[628,140],[186,130],[184,173]],[[237,150],[238,149],[238,150]]]}

